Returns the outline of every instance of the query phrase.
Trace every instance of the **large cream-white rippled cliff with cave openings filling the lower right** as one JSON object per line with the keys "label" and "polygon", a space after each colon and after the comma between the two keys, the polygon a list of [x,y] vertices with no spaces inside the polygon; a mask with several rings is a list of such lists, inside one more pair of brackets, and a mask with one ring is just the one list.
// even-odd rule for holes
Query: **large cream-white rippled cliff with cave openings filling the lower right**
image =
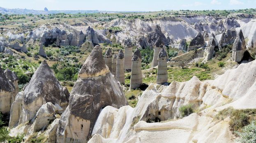
{"label": "large cream-white rippled cliff with cave openings filling the lower right", "polygon": [[[233,143],[235,137],[229,130],[229,118],[221,121],[214,119],[214,115],[227,107],[256,107],[255,69],[256,61],[252,61],[226,71],[215,80],[201,82],[194,76],[183,83],[151,84],[135,108],[105,107],[99,114],[89,143]],[[187,104],[193,105],[198,114],[178,119],[179,107]],[[150,123],[152,121],[164,122]]]}

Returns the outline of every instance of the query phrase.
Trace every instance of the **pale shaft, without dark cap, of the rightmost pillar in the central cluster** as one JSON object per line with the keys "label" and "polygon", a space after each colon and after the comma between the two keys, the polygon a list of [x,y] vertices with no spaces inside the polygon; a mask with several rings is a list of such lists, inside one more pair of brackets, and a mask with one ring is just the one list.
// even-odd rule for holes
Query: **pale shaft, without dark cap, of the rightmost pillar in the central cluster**
{"label": "pale shaft, without dark cap, of the rightmost pillar in the central cluster", "polygon": [[140,87],[142,84],[141,59],[132,61],[130,89]]}

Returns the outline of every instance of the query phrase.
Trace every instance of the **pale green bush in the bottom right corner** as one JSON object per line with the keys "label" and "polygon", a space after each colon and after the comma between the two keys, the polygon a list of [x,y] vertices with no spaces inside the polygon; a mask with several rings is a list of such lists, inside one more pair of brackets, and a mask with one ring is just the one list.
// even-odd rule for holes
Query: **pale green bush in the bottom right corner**
{"label": "pale green bush in the bottom right corner", "polygon": [[240,143],[256,143],[256,121],[242,128],[240,132],[235,132],[239,136]]}

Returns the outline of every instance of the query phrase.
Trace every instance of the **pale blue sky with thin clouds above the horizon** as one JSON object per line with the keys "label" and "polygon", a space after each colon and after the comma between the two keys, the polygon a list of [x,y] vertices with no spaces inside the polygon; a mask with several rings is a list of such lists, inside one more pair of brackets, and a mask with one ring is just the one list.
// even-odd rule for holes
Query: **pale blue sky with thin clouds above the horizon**
{"label": "pale blue sky with thin clouds above the horizon", "polygon": [[224,10],[256,8],[256,0],[0,0],[0,7],[100,11]]}

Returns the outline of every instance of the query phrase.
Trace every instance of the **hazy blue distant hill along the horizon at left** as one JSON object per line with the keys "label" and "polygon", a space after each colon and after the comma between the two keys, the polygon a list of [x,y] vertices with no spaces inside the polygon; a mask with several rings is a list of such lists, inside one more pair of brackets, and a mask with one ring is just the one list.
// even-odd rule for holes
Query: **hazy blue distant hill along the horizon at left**
{"label": "hazy blue distant hill along the horizon at left", "polygon": [[[46,8],[47,9],[47,8]],[[47,9],[48,10],[48,9]],[[75,14],[75,13],[125,13],[125,12],[143,12],[143,11],[99,11],[99,10],[33,10],[33,9],[6,9],[0,7],[0,13],[2,14],[54,14],[54,13],[66,13],[66,14]]]}

